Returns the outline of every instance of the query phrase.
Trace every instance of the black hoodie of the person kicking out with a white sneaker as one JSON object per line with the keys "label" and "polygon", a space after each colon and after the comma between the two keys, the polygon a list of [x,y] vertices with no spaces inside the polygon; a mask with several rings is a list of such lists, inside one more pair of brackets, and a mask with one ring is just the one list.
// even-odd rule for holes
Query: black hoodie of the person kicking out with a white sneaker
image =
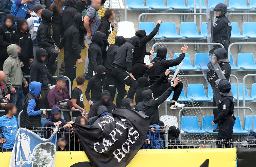
{"label": "black hoodie of the person kicking out with a white sneaker", "polygon": [[[167,69],[170,67],[174,67],[179,65],[182,60],[185,58],[185,53],[179,55],[177,59],[166,59],[167,48],[160,47],[157,48],[156,58],[154,58],[151,62],[155,62],[154,66],[151,68],[151,72],[149,75],[150,85],[155,83],[161,76],[165,73]],[[169,76],[166,77],[164,82],[168,82]]]}

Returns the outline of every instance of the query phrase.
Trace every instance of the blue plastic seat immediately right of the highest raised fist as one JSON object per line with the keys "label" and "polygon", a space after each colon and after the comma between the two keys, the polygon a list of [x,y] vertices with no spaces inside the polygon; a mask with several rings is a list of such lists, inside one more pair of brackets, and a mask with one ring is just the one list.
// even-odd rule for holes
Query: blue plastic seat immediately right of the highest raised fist
{"label": "blue plastic seat immediately right of the highest raised fist", "polygon": [[173,22],[163,22],[159,28],[159,35],[163,38],[182,38],[177,34],[176,25]]}

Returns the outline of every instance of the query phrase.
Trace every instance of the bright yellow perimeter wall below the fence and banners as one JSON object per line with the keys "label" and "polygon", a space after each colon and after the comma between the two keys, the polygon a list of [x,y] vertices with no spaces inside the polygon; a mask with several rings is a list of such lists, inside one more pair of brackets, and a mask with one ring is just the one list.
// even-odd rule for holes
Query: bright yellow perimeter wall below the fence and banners
{"label": "bright yellow perimeter wall below the fence and banners", "polygon": [[[0,153],[0,166],[8,167],[11,152]],[[71,159],[72,156],[72,159]],[[79,162],[88,162],[82,151],[56,152],[56,167],[69,167]],[[128,167],[200,167],[209,159],[209,167],[236,166],[236,148],[231,149],[168,149],[168,150],[140,150]]]}

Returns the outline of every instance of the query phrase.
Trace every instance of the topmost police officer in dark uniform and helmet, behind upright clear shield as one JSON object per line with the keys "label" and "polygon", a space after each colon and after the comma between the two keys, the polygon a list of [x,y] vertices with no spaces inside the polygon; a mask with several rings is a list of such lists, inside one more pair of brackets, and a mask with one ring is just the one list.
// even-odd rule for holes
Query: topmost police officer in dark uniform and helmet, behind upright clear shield
{"label": "topmost police officer in dark uniform and helmet, behind upright clear shield", "polygon": [[[216,5],[213,10],[216,14],[216,18],[218,18],[213,26],[213,40],[215,43],[222,44],[224,48],[228,51],[232,27],[229,19],[225,15],[230,15],[230,13],[228,13],[227,5],[222,3]],[[219,47],[219,45],[215,45],[214,49],[212,49],[209,53],[212,53]]]}

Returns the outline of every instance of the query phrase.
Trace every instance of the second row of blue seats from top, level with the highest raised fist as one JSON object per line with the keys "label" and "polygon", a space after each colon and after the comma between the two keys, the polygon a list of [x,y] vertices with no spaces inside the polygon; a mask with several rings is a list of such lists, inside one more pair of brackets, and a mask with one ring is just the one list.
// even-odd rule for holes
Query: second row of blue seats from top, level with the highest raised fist
{"label": "second row of blue seats from top, level with the highest raised fist", "polygon": [[[256,38],[256,22],[244,22],[242,35],[239,32],[239,27],[236,22],[231,22],[232,31],[231,39],[241,39],[241,38]],[[146,35],[150,34],[155,28],[155,23],[153,22],[141,22],[140,29],[146,31]],[[207,23],[203,22],[201,24],[201,34],[197,32],[197,26],[194,22],[182,22],[180,24],[180,35],[177,33],[176,24],[173,22],[163,22],[159,28],[159,34],[154,38],[168,38],[168,39],[180,39],[180,38],[207,38]]]}

